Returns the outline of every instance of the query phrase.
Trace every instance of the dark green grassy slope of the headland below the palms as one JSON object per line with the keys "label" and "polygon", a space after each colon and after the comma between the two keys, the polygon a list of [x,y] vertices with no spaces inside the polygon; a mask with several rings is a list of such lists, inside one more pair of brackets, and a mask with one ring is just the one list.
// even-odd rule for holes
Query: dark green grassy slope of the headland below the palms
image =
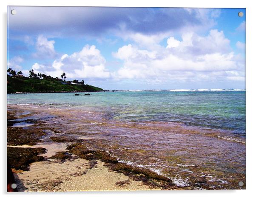
{"label": "dark green grassy slope of the headland below the palms", "polygon": [[91,85],[63,85],[61,81],[49,79],[19,78],[7,76],[7,93],[48,91],[103,91]]}

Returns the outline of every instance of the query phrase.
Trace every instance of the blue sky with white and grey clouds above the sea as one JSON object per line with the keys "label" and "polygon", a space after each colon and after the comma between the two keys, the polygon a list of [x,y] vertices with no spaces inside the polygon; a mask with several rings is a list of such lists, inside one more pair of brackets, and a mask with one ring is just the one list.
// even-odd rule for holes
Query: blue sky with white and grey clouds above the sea
{"label": "blue sky with white and grey clouds above the sea", "polygon": [[9,6],[7,47],[25,76],[106,90],[245,88],[244,8]]}

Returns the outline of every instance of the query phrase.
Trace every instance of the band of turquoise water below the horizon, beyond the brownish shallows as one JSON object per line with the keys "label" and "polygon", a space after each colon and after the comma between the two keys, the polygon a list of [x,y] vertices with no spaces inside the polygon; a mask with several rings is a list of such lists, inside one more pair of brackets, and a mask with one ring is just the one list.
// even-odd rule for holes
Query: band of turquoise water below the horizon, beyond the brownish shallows
{"label": "band of turquoise water below the horizon, beyond the brownish shallows", "polygon": [[245,91],[125,91],[91,94],[8,94],[8,103],[94,110],[102,112],[108,119],[182,122],[245,134]]}

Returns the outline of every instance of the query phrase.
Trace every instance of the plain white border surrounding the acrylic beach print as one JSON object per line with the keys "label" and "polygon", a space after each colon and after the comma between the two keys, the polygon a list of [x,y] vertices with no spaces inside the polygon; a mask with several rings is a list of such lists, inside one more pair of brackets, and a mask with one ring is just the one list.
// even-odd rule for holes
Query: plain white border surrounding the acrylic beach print
{"label": "plain white border surrounding the acrylic beach print", "polygon": [[[161,192],[65,192],[65,193],[22,193],[19,195],[6,194],[6,6],[131,6],[131,7],[205,7],[205,8],[246,8],[246,189],[247,190],[214,190],[214,191],[161,191]],[[178,0],[178,1],[167,1],[167,0],[146,0],[145,2],[139,0],[1,0],[0,1],[1,10],[1,192],[3,196],[17,197],[17,196],[37,196],[43,197],[46,195],[57,197],[69,197],[69,196],[79,196],[79,197],[141,197],[147,196],[151,197],[196,197],[196,198],[216,198],[216,197],[251,197],[255,194],[254,191],[254,180],[255,180],[255,125],[253,125],[255,117],[255,90],[256,90],[256,50],[255,46],[255,19],[256,19],[256,8],[253,5],[252,0]]]}

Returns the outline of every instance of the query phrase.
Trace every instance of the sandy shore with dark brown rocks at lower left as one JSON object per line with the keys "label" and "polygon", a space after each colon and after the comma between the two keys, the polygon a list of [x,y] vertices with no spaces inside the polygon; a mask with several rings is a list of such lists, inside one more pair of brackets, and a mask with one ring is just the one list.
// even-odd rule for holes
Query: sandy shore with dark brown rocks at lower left
{"label": "sandy shore with dark brown rocks at lower left", "polygon": [[[56,127],[51,128],[42,121],[30,120],[36,125],[13,127],[26,116],[22,115],[20,110],[9,109],[7,117],[9,126],[7,128],[7,158],[19,191],[190,189],[190,187],[178,188],[170,178],[158,175],[151,170],[119,162],[106,151],[90,150],[83,140],[58,135],[60,131]],[[48,137],[48,130],[57,133]],[[60,145],[62,145],[61,148]],[[81,161],[86,165],[82,165]],[[73,167],[72,171],[69,171],[71,164],[78,165],[75,165],[77,168]],[[41,169],[47,169],[50,172],[44,174]],[[58,173],[59,170],[62,170],[61,174]],[[84,186],[78,189],[75,184],[81,181],[86,174],[86,177],[91,174],[91,178],[87,179],[92,180],[96,177],[96,181],[90,183],[89,186],[87,186],[89,181],[83,181]],[[38,175],[45,176],[40,179]],[[114,183],[108,184],[108,179],[103,181],[102,177],[112,178]],[[69,185],[69,180],[72,180],[74,184]],[[102,189],[97,187],[99,182],[102,183],[99,184]],[[65,187],[63,187],[64,184]]]}

